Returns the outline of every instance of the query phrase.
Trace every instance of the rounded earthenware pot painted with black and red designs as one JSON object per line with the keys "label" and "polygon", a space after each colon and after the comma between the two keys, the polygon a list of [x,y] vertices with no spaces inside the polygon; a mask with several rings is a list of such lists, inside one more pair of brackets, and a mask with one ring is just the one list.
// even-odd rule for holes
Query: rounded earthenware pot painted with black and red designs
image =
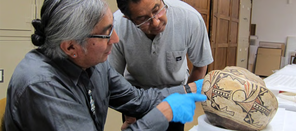
{"label": "rounded earthenware pot painted with black and red designs", "polygon": [[263,130],[274,117],[278,101],[264,81],[240,67],[209,72],[202,85],[209,122],[237,131]]}

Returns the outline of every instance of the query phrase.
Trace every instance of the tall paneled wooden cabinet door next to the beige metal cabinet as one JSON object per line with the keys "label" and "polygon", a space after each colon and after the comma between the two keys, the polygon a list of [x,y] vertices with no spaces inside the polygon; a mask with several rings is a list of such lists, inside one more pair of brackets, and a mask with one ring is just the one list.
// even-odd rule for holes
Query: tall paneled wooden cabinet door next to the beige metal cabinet
{"label": "tall paneled wooden cabinet door next to the beige metal cabinet", "polygon": [[236,66],[239,0],[212,0],[211,48],[214,62],[209,71]]}

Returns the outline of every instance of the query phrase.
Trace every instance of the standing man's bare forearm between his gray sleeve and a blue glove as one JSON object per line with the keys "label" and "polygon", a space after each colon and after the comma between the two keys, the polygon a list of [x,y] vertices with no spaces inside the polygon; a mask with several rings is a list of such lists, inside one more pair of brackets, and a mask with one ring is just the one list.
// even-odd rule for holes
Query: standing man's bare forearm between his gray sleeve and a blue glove
{"label": "standing man's bare forearm between his gray sleeve and a blue glove", "polygon": [[203,67],[195,67],[195,66],[193,66],[187,83],[192,83],[194,81],[203,79],[205,77],[206,72],[207,72],[207,66],[203,66]]}

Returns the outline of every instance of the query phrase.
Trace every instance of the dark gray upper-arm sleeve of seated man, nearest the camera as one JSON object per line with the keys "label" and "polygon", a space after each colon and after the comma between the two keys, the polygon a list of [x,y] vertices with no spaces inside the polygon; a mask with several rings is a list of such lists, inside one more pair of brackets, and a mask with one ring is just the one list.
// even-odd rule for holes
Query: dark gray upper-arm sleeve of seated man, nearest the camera
{"label": "dark gray upper-arm sleeve of seated man, nearest the camera", "polygon": [[[55,91],[52,91],[53,88]],[[27,131],[96,131],[89,110],[59,83],[29,85],[12,113],[16,125]]]}

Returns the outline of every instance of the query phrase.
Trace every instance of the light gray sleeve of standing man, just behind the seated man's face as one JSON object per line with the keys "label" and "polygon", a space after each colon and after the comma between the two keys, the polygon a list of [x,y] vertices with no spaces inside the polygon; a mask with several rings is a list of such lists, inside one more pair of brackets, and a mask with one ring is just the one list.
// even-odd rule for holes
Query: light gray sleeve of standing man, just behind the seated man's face
{"label": "light gray sleeve of standing man, just behind the seated man's face", "polygon": [[[114,29],[118,32],[118,25],[115,22]],[[118,34],[119,35],[119,34]],[[126,69],[126,59],[124,57],[123,44],[121,41],[119,43],[114,43],[111,54],[108,56],[111,66],[121,75],[123,75]]]}

